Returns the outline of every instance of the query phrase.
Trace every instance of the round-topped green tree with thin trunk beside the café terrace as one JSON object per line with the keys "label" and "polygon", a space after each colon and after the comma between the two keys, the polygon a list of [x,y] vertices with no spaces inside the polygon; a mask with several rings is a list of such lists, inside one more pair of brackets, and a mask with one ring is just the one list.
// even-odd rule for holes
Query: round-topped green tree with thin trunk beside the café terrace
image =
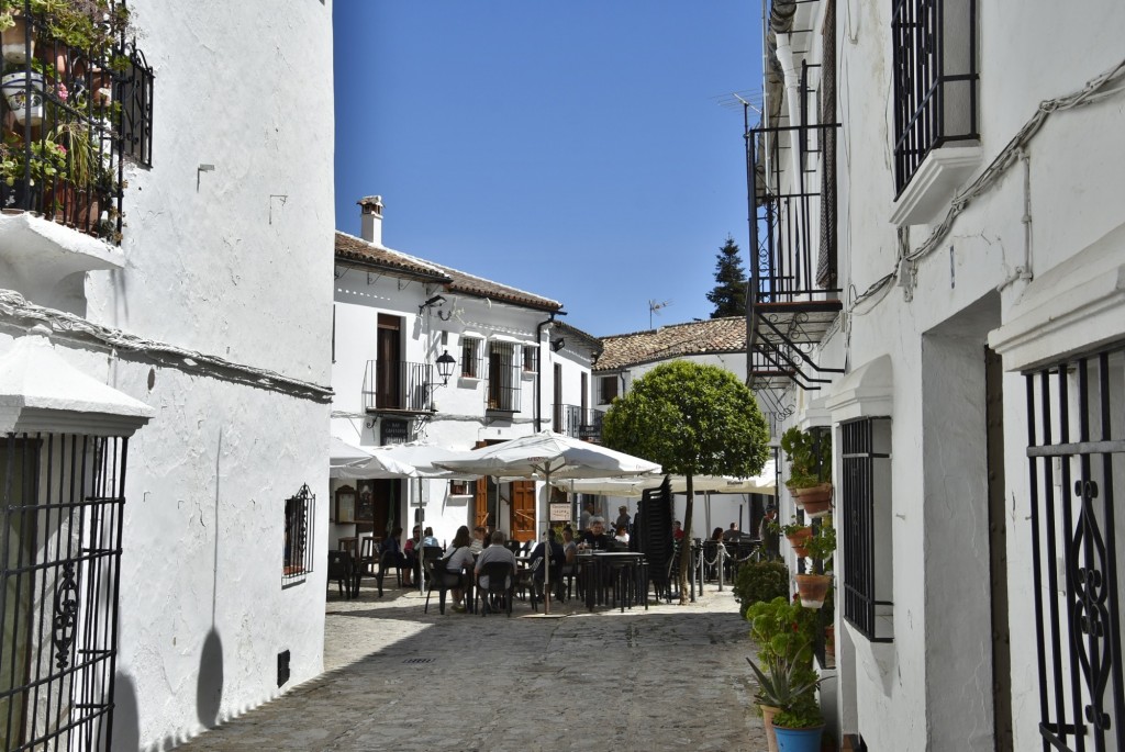
{"label": "round-topped green tree with thin trunk beside the caf\u00e9 terrace", "polygon": [[[756,475],[768,455],[770,429],[754,393],[734,373],[673,361],[613,400],[602,423],[602,441],[686,478],[684,541],[691,541],[693,477]],[[681,546],[680,556],[680,602],[685,604],[690,546]]]}

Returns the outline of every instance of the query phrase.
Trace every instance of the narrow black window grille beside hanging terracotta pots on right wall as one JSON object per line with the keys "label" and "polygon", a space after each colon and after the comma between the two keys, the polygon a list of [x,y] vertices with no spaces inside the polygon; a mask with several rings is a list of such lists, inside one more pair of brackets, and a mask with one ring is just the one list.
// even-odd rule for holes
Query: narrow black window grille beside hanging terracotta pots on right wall
{"label": "narrow black window grille beside hanging terracotta pots on right wall", "polygon": [[[872,642],[891,642],[890,418],[840,425],[843,488],[844,618]],[[882,578],[880,577],[882,576]]]}

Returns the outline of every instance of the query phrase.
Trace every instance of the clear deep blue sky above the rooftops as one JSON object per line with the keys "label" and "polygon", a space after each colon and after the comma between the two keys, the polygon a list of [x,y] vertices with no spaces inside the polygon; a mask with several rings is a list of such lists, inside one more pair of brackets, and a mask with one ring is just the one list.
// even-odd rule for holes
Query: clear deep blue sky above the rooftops
{"label": "clear deep blue sky above the rooftops", "polygon": [[[593,335],[708,318],[746,251],[746,0],[335,0],[336,227],[564,303]],[[752,119],[754,114],[752,112]],[[753,125],[753,123],[752,123]]]}

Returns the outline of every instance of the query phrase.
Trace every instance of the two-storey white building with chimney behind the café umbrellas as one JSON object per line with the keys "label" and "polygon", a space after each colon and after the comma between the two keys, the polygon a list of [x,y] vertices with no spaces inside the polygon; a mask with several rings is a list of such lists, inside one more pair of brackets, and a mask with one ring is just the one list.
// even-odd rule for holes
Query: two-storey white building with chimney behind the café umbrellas
{"label": "two-storey white building with chimney behind the caf\u00e9 umbrellas", "polygon": [[[388,248],[381,198],[359,203],[363,237],[335,241],[333,436],[470,450],[588,431],[597,341],[562,324],[562,303]],[[534,481],[359,478],[334,480],[333,498],[334,545],[418,520],[446,542],[461,525],[534,541],[547,524]]]}

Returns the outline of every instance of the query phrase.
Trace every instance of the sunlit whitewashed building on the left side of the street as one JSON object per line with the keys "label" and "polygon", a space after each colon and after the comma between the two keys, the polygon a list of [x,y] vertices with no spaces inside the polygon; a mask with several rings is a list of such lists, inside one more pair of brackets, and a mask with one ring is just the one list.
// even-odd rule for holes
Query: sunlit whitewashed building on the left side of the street
{"label": "sunlit whitewashed building on the left side of the street", "polygon": [[33,13],[69,96],[0,105],[60,160],[0,217],[3,749],[169,749],[323,667],[331,2],[128,7],[81,52]]}

